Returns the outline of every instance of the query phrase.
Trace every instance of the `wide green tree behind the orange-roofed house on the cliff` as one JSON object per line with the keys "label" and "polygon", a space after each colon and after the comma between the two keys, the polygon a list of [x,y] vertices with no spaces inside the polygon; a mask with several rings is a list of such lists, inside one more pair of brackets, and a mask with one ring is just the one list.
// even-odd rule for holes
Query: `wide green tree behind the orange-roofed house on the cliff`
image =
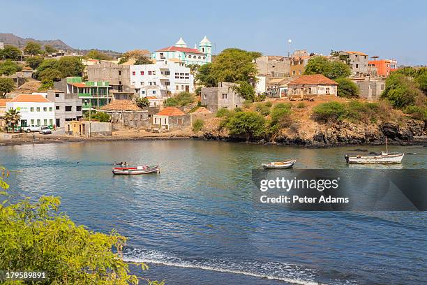
{"label": "wide green tree behind the orange-roofed house on the cliff", "polygon": [[346,78],[351,74],[350,67],[342,61],[331,61],[326,57],[313,57],[308,60],[304,75],[322,74],[330,79]]}

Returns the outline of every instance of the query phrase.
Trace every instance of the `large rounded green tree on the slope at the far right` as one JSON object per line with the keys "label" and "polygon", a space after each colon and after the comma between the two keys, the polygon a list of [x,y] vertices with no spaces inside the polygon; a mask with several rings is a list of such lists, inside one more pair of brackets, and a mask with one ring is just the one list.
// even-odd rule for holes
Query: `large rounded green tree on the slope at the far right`
{"label": "large rounded green tree on the slope at the far right", "polygon": [[414,80],[407,78],[403,73],[391,73],[385,83],[382,98],[387,98],[396,108],[405,108],[408,105],[422,105],[426,96],[417,88]]}

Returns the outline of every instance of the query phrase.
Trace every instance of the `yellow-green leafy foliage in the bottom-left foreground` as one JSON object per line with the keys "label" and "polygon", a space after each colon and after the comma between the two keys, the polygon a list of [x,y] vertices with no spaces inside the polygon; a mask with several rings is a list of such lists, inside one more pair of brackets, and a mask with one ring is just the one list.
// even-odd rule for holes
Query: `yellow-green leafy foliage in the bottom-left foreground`
{"label": "yellow-green leafy foliage in the bottom-left foreground", "polygon": [[[1,167],[2,270],[46,272],[48,281],[43,284],[138,284],[138,277],[130,275],[128,263],[121,256],[125,237],[114,230],[105,234],[77,226],[59,212],[59,197],[41,196],[31,202],[12,196],[6,177],[10,172]],[[135,264],[148,269],[144,263]],[[145,280],[152,285],[164,284]]]}

